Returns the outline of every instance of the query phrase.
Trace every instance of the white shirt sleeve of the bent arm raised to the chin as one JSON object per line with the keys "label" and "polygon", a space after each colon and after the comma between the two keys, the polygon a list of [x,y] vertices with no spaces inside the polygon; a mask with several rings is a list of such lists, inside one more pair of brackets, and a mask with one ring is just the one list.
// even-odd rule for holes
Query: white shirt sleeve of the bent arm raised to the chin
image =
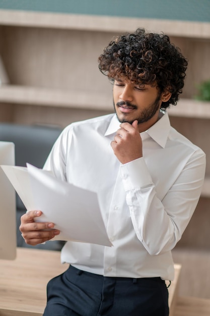
{"label": "white shirt sleeve of the bent arm raised to the chin", "polygon": [[[121,165],[132,224],[137,238],[151,255],[173,249],[181,238],[197,205],[204,172],[205,155],[191,155],[161,200],[144,158]],[[171,175],[163,177],[167,180]]]}

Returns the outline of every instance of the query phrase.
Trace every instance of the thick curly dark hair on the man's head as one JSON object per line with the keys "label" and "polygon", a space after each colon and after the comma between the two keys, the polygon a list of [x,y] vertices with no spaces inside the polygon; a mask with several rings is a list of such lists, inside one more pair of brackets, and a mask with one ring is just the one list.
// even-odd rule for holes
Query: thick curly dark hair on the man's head
{"label": "thick curly dark hair on the man's head", "polygon": [[146,33],[143,28],[116,37],[99,57],[99,70],[111,80],[157,84],[160,92],[169,90],[171,97],[161,109],[177,104],[186,69],[187,60],[167,35]]}

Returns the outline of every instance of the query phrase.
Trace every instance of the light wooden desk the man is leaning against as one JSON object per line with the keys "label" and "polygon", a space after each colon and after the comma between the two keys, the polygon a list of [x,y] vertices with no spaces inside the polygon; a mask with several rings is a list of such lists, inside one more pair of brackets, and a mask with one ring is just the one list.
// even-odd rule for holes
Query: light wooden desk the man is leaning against
{"label": "light wooden desk the man is leaning against", "polygon": [[[0,316],[41,316],[47,282],[67,268],[60,264],[59,251],[18,248],[15,260],[0,260]],[[170,306],[175,304],[180,268],[175,266],[169,287]]]}

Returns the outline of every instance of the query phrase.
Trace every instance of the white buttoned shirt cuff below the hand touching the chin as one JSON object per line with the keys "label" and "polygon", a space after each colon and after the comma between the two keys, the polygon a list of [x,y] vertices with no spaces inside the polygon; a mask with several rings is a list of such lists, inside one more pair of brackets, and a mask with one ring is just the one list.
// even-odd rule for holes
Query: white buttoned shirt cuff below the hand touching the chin
{"label": "white buttoned shirt cuff below the hand touching the chin", "polygon": [[145,163],[144,157],[121,165],[120,176],[122,178],[125,191],[148,187],[153,184],[153,180]]}

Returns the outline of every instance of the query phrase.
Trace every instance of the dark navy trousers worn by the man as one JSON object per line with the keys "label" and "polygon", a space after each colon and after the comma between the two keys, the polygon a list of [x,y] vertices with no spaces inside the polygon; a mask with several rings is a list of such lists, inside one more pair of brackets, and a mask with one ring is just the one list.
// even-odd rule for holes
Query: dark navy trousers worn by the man
{"label": "dark navy trousers worn by the man", "polygon": [[161,278],[110,278],[72,266],[47,285],[44,316],[168,316]]}

